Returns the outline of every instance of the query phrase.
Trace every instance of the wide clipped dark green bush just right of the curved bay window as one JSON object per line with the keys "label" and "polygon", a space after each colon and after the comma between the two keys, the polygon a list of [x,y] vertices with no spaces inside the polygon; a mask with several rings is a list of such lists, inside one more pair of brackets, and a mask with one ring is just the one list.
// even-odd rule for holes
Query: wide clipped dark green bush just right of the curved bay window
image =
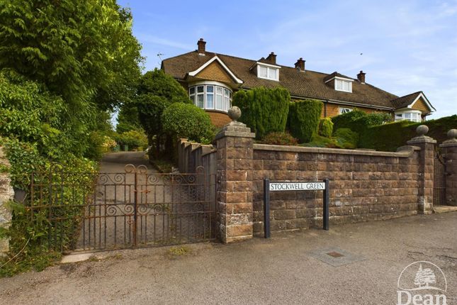
{"label": "wide clipped dark green bush just right of the curved bay window", "polygon": [[256,138],[264,138],[272,132],[286,130],[290,94],[287,89],[264,87],[233,94],[233,106],[241,109],[239,121],[246,123]]}

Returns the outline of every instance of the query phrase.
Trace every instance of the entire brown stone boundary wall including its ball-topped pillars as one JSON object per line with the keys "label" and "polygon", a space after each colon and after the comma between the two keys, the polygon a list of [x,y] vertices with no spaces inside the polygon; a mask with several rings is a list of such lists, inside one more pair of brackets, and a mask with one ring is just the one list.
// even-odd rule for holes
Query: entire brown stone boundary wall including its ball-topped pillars
{"label": "entire brown stone boundary wall including its ball-topped pillars", "polygon": [[[419,126],[417,137],[390,153],[254,144],[254,133],[232,121],[218,133],[215,148],[208,147],[208,153],[203,153],[203,145],[185,139],[179,145],[187,170],[191,164],[202,164],[217,173],[219,237],[230,243],[263,235],[266,178],[271,182],[329,179],[330,226],[430,214],[436,141],[425,135],[427,131],[427,126]],[[451,135],[440,146],[448,172],[447,204],[457,205],[457,131]],[[271,192],[271,231],[322,227],[322,197],[323,191]]]}

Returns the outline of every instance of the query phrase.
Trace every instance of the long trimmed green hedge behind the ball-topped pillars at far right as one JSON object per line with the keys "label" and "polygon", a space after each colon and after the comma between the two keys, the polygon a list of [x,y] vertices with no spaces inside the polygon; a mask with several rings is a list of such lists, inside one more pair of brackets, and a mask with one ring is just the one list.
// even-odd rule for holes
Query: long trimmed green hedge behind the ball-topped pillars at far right
{"label": "long trimmed green hedge behind the ball-topped pillars at far right", "polygon": [[447,138],[446,134],[449,129],[457,128],[457,115],[421,123],[399,121],[381,126],[373,126],[361,133],[359,147],[395,151],[400,146],[407,145],[407,140],[416,136],[416,128],[419,125],[429,126],[429,133],[427,135],[434,138],[438,143],[443,143]]}

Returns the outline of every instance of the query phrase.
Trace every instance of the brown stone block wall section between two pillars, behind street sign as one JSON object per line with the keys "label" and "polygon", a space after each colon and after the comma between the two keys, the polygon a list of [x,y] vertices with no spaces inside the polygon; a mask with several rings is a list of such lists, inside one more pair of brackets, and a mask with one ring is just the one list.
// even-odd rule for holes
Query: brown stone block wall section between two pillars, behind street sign
{"label": "brown stone block wall section between two pillars, behind street sign", "polygon": [[[330,179],[330,223],[418,213],[419,150],[399,153],[254,145],[253,226],[263,232],[263,179]],[[271,192],[271,231],[322,226],[322,191]]]}

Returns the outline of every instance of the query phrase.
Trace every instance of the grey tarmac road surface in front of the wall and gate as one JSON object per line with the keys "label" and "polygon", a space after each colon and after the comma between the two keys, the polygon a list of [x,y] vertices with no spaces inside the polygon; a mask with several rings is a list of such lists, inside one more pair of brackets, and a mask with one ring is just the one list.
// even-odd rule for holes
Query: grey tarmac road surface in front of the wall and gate
{"label": "grey tarmac road surface in front of the wall and gate", "polygon": [[441,268],[457,304],[456,232],[450,212],[94,253],[0,279],[0,304],[397,304],[400,273],[417,261]]}

